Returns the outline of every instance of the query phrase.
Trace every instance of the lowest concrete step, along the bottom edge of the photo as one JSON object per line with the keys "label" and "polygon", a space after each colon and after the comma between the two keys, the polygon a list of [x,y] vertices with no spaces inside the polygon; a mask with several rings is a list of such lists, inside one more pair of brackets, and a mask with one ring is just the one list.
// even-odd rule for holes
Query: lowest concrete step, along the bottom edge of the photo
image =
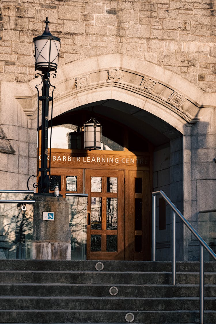
{"label": "lowest concrete step, along the bottom edge of the photo", "polygon": [[[125,323],[130,310],[1,310],[1,323]],[[133,323],[199,323],[199,311],[131,311]],[[215,323],[215,311],[205,311],[204,323]]]}

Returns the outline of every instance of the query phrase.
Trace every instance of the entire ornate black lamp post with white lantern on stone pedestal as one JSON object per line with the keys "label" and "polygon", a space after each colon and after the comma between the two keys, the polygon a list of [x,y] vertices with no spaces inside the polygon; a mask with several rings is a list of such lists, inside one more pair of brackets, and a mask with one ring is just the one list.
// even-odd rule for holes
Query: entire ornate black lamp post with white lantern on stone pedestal
{"label": "entire ornate black lamp post with white lantern on stone pedestal", "polygon": [[[33,185],[34,188],[38,187],[39,193],[49,193],[50,191],[50,164],[48,168],[48,127],[49,127],[49,101],[53,106],[53,91],[55,86],[50,83],[50,72],[57,70],[58,57],[60,51],[61,40],[50,33],[48,24],[48,17],[45,21],[46,27],[42,35],[33,39],[33,50],[35,59],[35,70],[39,70],[42,74],[37,73],[36,78],[41,76],[41,83],[36,85],[38,91],[38,134],[39,134],[39,101],[42,102],[41,112],[41,165],[39,168],[39,135],[38,135],[38,174],[40,172],[39,182]],[[53,78],[56,75],[51,74]],[[39,96],[38,86],[42,84],[42,96]],[[53,88],[50,96],[50,86]],[[51,107],[51,126],[52,126],[52,107]],[[50,138],[50,153],[51,153],[51,138]],[[50,158],[51,161],[51,158]],[[33,176],[33,177],[37,177]],[[31,178],[31,177],[30,177]],[[30,179],[29,178],[29,179]],[[29,181],[28,179],[28,181]],[[28,183],[27,183],[28,186]],[[29,189],[28,189],[29,190]]]}

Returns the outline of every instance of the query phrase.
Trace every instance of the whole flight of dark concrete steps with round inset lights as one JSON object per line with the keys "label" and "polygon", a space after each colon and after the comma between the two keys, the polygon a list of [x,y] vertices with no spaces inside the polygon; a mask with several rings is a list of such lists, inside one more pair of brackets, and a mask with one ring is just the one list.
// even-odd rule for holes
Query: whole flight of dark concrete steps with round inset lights
{"label": "whole flight of dark concrete steps with round inset lights", "polygon": [[[175,286],[170,262],[100,262],[0,260],[0,323],[199,323],[199,262],[177,262]],[[216,262],[204,271],[216,323]]]}

